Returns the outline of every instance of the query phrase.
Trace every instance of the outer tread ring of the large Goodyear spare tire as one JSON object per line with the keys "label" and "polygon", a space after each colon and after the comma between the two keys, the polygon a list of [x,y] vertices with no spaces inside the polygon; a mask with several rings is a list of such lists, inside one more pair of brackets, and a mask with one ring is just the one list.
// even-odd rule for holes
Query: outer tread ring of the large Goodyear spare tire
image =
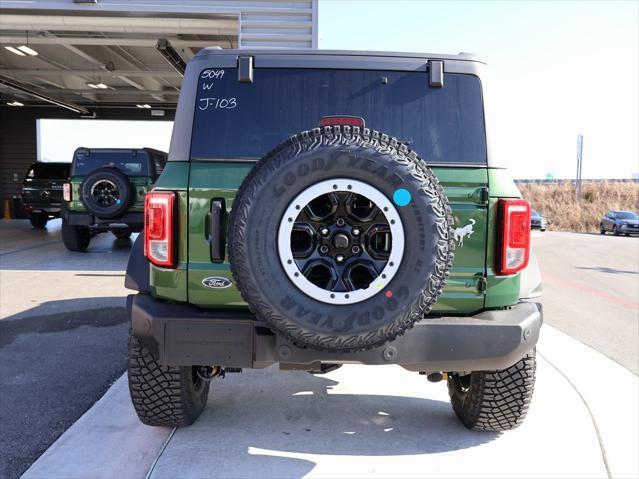
{"label": "outer tread ring of the large Goodyear spare tire", "polygon": [[[378,153],[392,156],[394,161],[406,166],[409,173],[422,183],[422,190],[430,200],[437,216],[437,228],[440,240],[437,244],[437,259],[433,274],[420,297],[403,315],[384,328],[365,335],[327,336],[305,329],[301,324],[277,313],[253,284],[248,263],[238,261],[246,258],[248,244],[247,220],[254,198],[260,187],[271,181],[273,174],[286,162],[293,160],[302,151],[312,151],[321,145],[362,146],[372,148]],[[269,152],[242,182],[229,218],[229,262],[231,272],[244,301],[257,316],[270,324],[286,339],[312,347],[319,351],[361,351],[379,347],[394,340],[411,329],[414,324],[430,312],[442,293],[454,259],[454,218],[448,199],[437,177],[426,162],[414,151],[396,138],[368,128],[344,125],[314,128],[292,136]]]}

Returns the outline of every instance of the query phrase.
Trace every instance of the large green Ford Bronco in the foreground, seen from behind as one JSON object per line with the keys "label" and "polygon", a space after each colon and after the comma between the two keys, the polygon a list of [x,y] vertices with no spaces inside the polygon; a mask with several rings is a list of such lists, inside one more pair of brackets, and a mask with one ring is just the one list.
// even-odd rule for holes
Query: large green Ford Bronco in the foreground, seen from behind
{"label": "large green Ford Bronco in the foreground, seen from behind", "polygon": [[491,157],[471,55],[204,49],[127,267],[140,420],[279,364],[445,380],[468,428],[518,426],[541,282],[530,205]]}

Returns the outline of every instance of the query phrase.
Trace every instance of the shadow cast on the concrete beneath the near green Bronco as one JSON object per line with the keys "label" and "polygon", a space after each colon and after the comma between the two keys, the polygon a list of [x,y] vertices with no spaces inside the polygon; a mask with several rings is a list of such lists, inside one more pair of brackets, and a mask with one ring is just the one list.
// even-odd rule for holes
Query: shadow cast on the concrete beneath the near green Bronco
{"label": "shadow cast on the concrete beneath the near green Bronco", "polygon": [[[465,429],[448,401],[416,397],[421,383],[410,390],[414,373],[397,371],[402,381],[411,378],[409,390],[401,384],[369,388],[360,378],[358,393],[352,393],[345,389],[353,386],[347,378],[352,372],[344,373],[347,368],[331,373],[343,381],[276,368],[214,380],[202,417],[176,431],[151,477],[171,477],[178,463],[184,477],[200,477],[205,471],[215,471],[217,477],[255,477],[256,471],[268,477],[302,477],[318,462],[340,461],[340,456],[433,454],[499,437]],[[370,381],[375,377],[370,374]],[[418,378],[425,393],[426,380]],[[443,384],[438,387],[445,391]],[[397,389],[402,395],[388,394]],[[197,458],[185,465],[180,458],[196,445]]]}

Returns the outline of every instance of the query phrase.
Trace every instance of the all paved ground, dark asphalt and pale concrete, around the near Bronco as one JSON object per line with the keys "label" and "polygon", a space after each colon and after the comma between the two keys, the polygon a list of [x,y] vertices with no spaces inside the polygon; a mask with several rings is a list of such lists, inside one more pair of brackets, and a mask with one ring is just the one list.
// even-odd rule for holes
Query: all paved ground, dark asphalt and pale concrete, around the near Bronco
{"label": "all paved ground, dark asphalt and pale concrete, around the near Bronco", "polygon": [[69,253],[58,222],[5,222],[0,239],[0,455],[28,465],[66,430],[27,478],[639,476],[638,378],[582,344],[632,369],[634,238],[535,234],[546,322],[579,341],[544,327],[529,417],[504,434],[467,431],[444,384],[392,366],[229,375],[177,431],[139,423],[124,376],[82,415],[124,368],[130,243],[105,234]]}

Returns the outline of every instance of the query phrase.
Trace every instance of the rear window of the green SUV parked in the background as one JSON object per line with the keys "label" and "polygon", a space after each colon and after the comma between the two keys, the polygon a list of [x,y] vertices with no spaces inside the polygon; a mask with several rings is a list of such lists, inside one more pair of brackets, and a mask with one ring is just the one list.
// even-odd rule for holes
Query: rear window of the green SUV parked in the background
{"label": "rear window of the green SUV parked in the background", "polygon": [[86,176],[98,168],[117,168],[128,176],[147,176],[146,152],[79,150],[73,164],[74,176]]}

